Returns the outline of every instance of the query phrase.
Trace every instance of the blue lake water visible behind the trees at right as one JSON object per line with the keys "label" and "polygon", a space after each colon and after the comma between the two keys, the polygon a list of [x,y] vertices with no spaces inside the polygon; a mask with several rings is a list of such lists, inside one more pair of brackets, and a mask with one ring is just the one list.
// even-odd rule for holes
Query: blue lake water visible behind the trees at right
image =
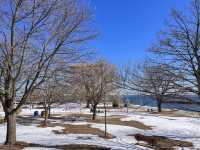
{"label": "blue lake water visible behind the trees at right", "polygon": [[[131,103],[131,104],[157,107],[156,100],[154,100],[150,96],[128,95],[128,96],[124,96],[123,99],[124,99],[124,101],[129,101],[129,103]],[[198,100],[197,97],[193,97],[192,99],[194,101]],[[163,103],[162,108],[200,112],[199,104]]]}

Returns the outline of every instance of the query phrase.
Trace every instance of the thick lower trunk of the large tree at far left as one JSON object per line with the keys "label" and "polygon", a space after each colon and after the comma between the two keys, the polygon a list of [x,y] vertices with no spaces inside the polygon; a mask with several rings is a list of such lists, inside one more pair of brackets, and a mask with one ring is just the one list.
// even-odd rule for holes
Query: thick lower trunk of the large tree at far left
{"label": "thick lower trunk of the large tree at far left", "polygon": [[16,143],[16,114],[7,114],[7,134],[6,142],[7,145],[14,145]]}

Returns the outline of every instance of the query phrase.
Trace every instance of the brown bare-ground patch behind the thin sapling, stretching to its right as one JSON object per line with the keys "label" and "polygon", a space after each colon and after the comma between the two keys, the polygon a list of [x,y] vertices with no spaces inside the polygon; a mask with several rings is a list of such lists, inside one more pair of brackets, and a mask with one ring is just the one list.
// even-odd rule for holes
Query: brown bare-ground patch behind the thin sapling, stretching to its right
{"label": "brown bare-ground patch behind the thin sapling, stretching to its right", "polygon": [[[122,117],[108,117],[107,118],[107,124],[113,124],[113,125],[122,125],[122,126],[129,126],[129,127],[134,127],[142,130],[151,130],[150,126],[147,126],[143,124],[142,122],[139,121],[121,121]],[[91,123],[104,123],[104,117],[97,117],[96,120],[88,120],[88,122]]]}

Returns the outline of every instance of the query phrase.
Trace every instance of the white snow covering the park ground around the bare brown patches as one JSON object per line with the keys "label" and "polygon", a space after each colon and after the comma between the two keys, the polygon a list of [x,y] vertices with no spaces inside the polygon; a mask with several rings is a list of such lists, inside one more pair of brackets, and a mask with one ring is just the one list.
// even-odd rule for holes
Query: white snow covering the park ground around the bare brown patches
{"label": "white snow covering the park ground around the bare brown patches", "polygon": [[[42,109],[23,109],[20,115],[32,115],[33,112],[42,111]],[[53,113],[84,113],[88,114],[89,109],[81,108],[79,104],[64,104],[52,109]],[[103,114],[101,114],[103,115]],[[169,117],[166,115],[149,114],[147,112],[130,112],[125,110],[113,109],[108,112],[108,116],[121,115],[124,116],[122,121],[135,120],[147,126],[151,126],[152,130],[142,130],[134,127],[111,125],[108,124],[107,132],[116,136],[113,139],[100,138],[97,135],[90,134],[55,134],[54,130],[62,130],[63,127],[40,128],[37,125],[17,125],[17,140],[41,145],[66,145],[66,144],[91,144],[110,147],[113,150],[137,150],[147,149],[135,145],[137,141],[130,134],[142,133],[145,135],[166,136],[171,139],[184,140],[192,142],[194,149],[200,148],[200,118],[198,117]],[[59,120],[51,120],[59,123]],[[63,123],[63,122],[62,122]],[[70,122],[64,122],[67,124]],[[87,123],[79,121],[75,124],[91,124],[93,128],[104,130],[103,124]],[[0,143],[5,140],[5,124],[0,124]],[[31,150],[33,148],[26,148]],[[37,149],[37,148],[36,148]],[[34,150],[34,149],[33,149]],[[42,150],[42,149],[41,149]]]}

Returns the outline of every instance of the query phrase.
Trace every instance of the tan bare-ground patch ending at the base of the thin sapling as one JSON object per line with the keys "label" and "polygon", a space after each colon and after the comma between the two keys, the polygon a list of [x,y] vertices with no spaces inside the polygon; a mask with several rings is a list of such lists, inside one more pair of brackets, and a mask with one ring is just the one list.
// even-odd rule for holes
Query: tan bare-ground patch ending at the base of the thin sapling
{"label": "tan bare-ground patch ending at the base of the thin sapling", "polygon": [[94,134],[98,135],[99,137],[106,138],[106,139],[112,139],[114,138],[113,135],[105,133],[104,131],[98,129],[98,128],[92,128],[90,125],[65,125],[65,129],[62,131],[55,130],[54,133],[56,134]]}

